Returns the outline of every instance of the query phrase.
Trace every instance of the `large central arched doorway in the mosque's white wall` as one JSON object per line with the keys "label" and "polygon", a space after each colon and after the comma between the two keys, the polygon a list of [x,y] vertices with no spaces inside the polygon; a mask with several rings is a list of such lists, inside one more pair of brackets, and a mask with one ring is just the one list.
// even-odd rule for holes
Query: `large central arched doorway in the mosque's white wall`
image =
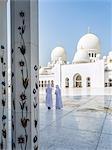
{"label": "large central arched doorway in the mosque's white wall", "polygon": [[75,74],[73,77],[73,87],[80,88],[82,87],[82,77],[80,74]]}

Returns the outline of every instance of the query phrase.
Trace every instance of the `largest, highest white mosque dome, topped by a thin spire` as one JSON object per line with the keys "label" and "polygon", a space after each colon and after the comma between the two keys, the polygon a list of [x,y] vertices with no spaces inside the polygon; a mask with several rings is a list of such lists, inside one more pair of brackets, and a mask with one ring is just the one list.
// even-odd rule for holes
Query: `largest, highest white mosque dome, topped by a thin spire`
{"label": "largest, highest white mosque dome, topped by a thin spire", "polygon": [[100,51],[99,38],[92,33],[85,34],[78,42],[77,50],[96,50]]}

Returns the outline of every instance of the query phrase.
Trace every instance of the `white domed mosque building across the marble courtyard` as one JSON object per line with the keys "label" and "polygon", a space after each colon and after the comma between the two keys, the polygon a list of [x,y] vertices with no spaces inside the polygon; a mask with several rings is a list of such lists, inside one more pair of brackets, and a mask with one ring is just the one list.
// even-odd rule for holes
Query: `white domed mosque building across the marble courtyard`
{"label": "white domed mosque building across the marble courtyard", "polygon": [[51,61],[39,70],[39,86],[61,88],[112,87],[112,51],[101,58],[100,40],[92,33],[81,37],[72,63],[63,47],[51,52]]}

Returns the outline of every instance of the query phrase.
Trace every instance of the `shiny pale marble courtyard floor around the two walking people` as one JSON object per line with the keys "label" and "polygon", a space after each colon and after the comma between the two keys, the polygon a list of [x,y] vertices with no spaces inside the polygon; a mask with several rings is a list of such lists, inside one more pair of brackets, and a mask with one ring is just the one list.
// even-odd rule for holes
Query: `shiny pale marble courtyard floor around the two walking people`
{"label": "shiny pale marble courtyard floor around the two walking people", "polygon": [[65,94],[62,110],[47,110],[44,99],[41,93],[40,150],[112,149],[112,95]]}

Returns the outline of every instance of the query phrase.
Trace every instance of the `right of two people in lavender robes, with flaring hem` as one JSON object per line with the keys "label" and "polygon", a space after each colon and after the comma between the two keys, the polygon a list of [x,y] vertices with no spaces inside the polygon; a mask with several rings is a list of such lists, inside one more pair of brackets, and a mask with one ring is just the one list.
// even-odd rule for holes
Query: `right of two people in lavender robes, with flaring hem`
{"label": "right of two people in lavender robes, with flaring hem", "polygon": [[61,89],[59,88],[58,85],[56,85],[55,94],[56,94],[56,109],[61,109],[63,107],[63,104],[61,98]]}

